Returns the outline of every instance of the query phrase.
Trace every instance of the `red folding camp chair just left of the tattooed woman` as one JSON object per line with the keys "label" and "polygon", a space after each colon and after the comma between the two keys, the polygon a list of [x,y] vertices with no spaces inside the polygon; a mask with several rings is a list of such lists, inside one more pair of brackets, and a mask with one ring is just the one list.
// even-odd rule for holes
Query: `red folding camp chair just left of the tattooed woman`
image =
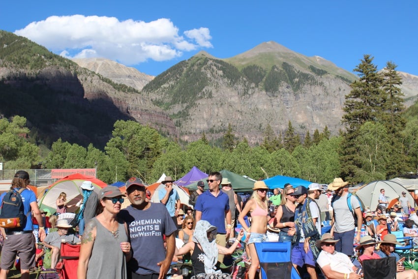
{"label": "red folding camp chair just left of the tattooed woman", "polygon": [[60,261],[55,267],[62,279],[77,279],[78,258],[80,245],[61,243]]}

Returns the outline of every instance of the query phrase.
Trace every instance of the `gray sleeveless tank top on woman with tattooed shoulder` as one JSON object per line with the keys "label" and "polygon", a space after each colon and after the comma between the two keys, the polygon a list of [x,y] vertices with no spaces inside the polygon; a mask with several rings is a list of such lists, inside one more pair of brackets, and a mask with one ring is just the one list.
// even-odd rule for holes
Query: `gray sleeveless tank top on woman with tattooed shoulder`
{"label": "gray sleeveless tank top on woman with tattooed shoulder", "polygon": [[119,246],[121,242],[128,241],[125,226],[119,222],[118,237],[115,237],[95,217],[90,222],[96,223],[97,233],[87,267],[87,278],[126,279],[125,255]]}

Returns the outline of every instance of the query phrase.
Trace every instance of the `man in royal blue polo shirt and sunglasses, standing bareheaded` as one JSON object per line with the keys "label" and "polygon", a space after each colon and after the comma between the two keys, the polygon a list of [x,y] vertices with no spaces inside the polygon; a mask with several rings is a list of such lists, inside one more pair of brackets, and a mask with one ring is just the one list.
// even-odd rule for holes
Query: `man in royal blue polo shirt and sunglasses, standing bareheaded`
{"label": "man in royal blue polo shirt and sunglasses, standing bareheaded", "polygon": [[[199,195],[196,200],[196,223],[206,220],[217,228],[216,243],[226,246],[226,239],[234,228],[231,226],[231,211],[229,210],[229,197],[219,189],[222,174],[211,172],[208,177],[209,190]],[[225,219],[227,227],[225,228]],[[223,262],[224,255],[218,254],[218,261]]]}

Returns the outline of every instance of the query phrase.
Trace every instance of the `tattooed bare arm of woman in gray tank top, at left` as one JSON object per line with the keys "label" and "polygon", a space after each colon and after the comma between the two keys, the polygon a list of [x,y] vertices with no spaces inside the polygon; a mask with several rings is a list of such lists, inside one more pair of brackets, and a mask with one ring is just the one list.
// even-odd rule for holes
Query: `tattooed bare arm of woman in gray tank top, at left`
{"label": "tattooed bare arm of woman in gray tank top, at left", "polygon": [[94,220],[90,220],[84,229],[84,234],[81,238],[80,256],[77,268],[77,278],[87,278],[87,266],[93,249],[94,239],[96,238],[97,225]]}

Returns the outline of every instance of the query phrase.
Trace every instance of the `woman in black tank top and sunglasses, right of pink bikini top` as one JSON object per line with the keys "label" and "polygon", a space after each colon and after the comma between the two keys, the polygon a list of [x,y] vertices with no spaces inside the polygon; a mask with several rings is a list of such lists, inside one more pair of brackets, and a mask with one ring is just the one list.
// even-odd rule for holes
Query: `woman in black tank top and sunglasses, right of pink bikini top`
{"label": "woman in black tank top and sunglasses, right of pink bikini top", "polygon": [[286,187],[283,189],[282,201],[277,207],[277,212],[273,225],[280,228],[279,242],[292,241],[295,235],[295,196],[291,195],[295,192],[294,188]]}

